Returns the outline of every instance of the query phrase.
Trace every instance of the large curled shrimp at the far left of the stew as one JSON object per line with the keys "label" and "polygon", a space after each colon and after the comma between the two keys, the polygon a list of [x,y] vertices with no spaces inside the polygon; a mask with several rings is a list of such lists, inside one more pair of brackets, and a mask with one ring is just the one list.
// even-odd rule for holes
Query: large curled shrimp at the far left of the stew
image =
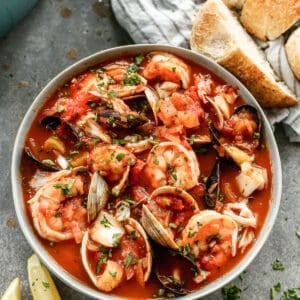
{"label": "large curled shrimp at the far left of the stew", "polygon": [[86,209],[81,206],[84,182],[69,171],[61,171],[61,175],[40,187],[29,200],[33,225],[47,240],[74,238],[80,243],[87,222]]}

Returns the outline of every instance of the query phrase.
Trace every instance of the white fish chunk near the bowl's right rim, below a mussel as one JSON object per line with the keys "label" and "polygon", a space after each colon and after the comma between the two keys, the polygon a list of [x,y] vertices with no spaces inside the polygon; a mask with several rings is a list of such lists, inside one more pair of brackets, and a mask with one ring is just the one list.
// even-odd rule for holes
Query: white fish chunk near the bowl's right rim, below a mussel
{"label": "white fish chunk near the bowl's right rim, below a mussel", "polygon": [[263,190],[268,182],[267,171],[249,162],[241,164],[241,173],[236,177],[241,195],[249,197],[255,190]]}

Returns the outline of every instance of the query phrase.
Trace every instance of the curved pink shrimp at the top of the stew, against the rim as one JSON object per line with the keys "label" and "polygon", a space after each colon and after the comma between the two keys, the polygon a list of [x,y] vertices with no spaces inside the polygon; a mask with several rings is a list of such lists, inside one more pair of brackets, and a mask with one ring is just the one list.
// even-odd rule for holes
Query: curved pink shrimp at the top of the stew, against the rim
{"label": "curved pink shrimp at the top of the stew, against the rim", "polygon": [[191,69],[178,57],[165,52],[152,52],[150,61],[145,65],[143,76],[146,79],[157,79],[180,83],[187,89],[191,82]]}

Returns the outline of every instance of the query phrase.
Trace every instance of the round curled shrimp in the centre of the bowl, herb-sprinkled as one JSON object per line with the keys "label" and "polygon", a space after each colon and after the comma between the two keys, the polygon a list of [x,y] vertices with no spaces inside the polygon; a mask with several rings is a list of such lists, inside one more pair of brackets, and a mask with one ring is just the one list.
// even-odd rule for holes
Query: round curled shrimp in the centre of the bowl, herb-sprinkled
{"label": "round curled shrimp in the centre of the bowl, herb-sprinkled", "polygon": [[173,142],[154,146],[143,172],[153,188],[171,185],[189,190],[198,184],[200,176],[195,153]]}

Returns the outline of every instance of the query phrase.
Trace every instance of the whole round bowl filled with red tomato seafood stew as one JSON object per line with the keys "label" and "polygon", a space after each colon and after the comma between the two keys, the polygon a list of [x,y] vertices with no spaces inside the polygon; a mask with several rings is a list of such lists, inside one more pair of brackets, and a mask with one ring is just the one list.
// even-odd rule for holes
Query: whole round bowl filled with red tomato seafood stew
{"label": "whole round bowl filled with red tomato seafood stew", "polygon": [[198,299],[266,241],[281,165],[253,96],[166,45],[93,54],[27,111],[12,158],[20,227],[45,265],[98,299]]}

